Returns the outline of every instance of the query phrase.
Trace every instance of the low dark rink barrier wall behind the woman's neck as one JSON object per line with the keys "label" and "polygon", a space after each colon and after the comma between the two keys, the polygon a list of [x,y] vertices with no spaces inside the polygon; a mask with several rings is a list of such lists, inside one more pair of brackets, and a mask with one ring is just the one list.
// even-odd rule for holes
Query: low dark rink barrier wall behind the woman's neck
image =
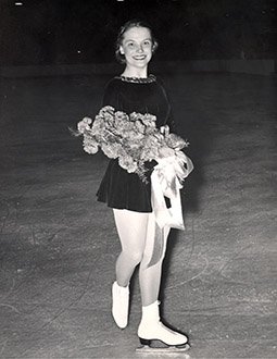
{"label": "low dark rink barrier wall behind the woman's neck", "polygon": [[[1,66],[1,77],[102,75],[122,71],[116,63]],[[188,60],[151,63],[155,73],[227,72],[270,75],[277,72],[277,60]]]}

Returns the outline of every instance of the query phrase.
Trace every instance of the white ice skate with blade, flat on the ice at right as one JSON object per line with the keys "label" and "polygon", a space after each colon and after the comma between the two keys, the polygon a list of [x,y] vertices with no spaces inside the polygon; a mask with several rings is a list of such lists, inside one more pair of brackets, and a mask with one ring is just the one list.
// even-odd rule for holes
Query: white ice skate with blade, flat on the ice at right
{"label": "white ice skate with blade, flat on the ice at right", "polygon": [[[171,330],[161,322],[159,301],[142,307],[142,319],[138,327],[138,336],[142,345],[137,349],[138,351],[185,351],[189,349],[186,335]],[[155,341],[164,344],[164,346],[151,346],[152,342]]]}

